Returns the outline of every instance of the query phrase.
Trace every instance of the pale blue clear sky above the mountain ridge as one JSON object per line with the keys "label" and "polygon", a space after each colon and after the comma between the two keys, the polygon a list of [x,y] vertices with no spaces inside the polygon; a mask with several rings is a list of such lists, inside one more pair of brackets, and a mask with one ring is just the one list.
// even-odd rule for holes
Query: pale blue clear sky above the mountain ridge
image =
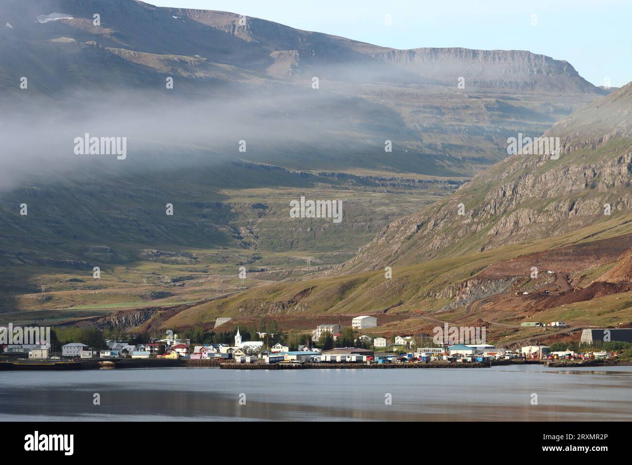
{"label": "pale blue clear sky above the mountain ridge", "polygon": [[[632,0],[147,0],[217,9],[384,47],[528,50],[595,85],[632,80]],[[386,25],[391,15],[392,25]],[[533,16],[535,15],[535,16]]]}

